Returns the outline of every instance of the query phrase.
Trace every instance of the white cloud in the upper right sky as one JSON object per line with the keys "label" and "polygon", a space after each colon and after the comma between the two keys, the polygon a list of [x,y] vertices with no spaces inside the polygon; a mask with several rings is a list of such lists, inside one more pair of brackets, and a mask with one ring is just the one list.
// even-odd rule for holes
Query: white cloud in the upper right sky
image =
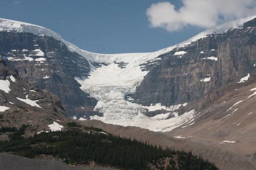
{"label": "white cloud in the upper right sky", "polygon": [[219,23],[256,14],[256,0],[182,0],[175,10],[169,2],[154,3],[146,14],[153,28],[180,31],[186,26],[210,28]]}

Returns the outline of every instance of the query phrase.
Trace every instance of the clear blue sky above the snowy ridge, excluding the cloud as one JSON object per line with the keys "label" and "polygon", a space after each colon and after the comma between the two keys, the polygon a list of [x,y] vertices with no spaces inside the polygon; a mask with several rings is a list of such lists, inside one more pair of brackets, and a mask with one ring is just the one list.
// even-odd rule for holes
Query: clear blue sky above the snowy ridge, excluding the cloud
{"label": "clear blue sky above the snowy ridge, excluding the cloud", "polygon": [[[163,1],[4,0],[0,18],[49,28],[79,48],[105,54],[157,51],[187,40],[209,26],[177,22],[169,23],[168,28],[159,26],[155,21],[149,21],[146,14],[151,4],[159,2],[162,4]],[[175,10],[183,6],[180,0],[169,0],[168,3],[175,6]],[[161,7],[156,8],[162,11]],[[150,15],[159,13],[155,11]],[[172,17],[169,15],[166,20]],[[175,24],[181,28],[174,30]]]}

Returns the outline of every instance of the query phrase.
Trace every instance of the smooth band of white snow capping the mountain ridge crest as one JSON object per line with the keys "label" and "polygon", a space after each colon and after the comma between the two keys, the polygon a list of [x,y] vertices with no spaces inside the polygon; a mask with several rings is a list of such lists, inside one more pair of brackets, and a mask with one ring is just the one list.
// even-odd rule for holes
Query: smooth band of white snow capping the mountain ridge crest
{"label": "smooth band of white snow capping the mountain ridge crest", "polygon": [[61,38],[61,36],[54,31],[49,30],[48,28],[44,28],[41,26],[29,24],[29,23],[23,23],[19,21],[14,20],[6,20],[0,18],[0,30],[12,30],[12,31],[23,31],[23,32],[29,32],[32,34],[44,34],[50,37],[54,37],[56,40],[61,40],[64,42],[65,45],[70,49],[70,51],[75,51],[78,54],[81,54],[85,58],[96,61],[96,62],[136,62],[136,65],[140,65],[145,63],[148,60],[154,59],[155,57],[164,54],[166,52],[172,51],[174,48],[182,47],[184,45],[188,45],[191,42],[194,42],[198,39],[204,38],[209,34],[214,33],[223,33],[227,32],[228,30],[232,30],[234,28],[239,28],[243,26],[244,23],[247,21],[253,20],[256,16],[247,17],[239,20],[230,21],[228,23],[221,24],[219,26],[215,26],[213,28],[210,28],[206,31],[201,32],[200,34],[190,38],[189,40],[186,40],[184,42],[181,42],[177,45],[173,45],[168,48],[161,49],[159,51],[151,52],[151,53],[128,53],[128,54],[98,54],[98,53],[92,53],[89,51],[82,50],[78,48],[76,45],[73,45],[70,42],[67,42]]}

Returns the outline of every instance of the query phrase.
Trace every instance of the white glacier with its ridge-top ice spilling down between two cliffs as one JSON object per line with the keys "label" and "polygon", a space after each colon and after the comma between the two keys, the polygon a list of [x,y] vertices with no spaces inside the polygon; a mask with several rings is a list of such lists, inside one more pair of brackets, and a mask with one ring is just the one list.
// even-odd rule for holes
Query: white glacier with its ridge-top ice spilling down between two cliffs
{"label": "white glacier with its ridge-top ice spilling down between two cliffs", "polygon": [[[160,103],[151,106],[143,106],[131,102],[132,99],[125,100],[125,95],[133,94],[136,91],[137,86],[139,86],[143,81],[145,75],[148,74],[148,71],[141,70],[140,65],[145,64],[148,61],[159,60],[160,58],[157,57],[161,54],[189,45],[196,40],[207,37],[209,34],[222,34],[235,28],[241,28],[245,22],[253,20],[255,17],[256,16],[247,17],[221,24],[203,31],[189,40],[177,45],[150,53],[92,53],[82,50],[76,45],[63,40],[61,35],[49,30],[48,28],[13,20],[0,19],[0,31],[23,31],[32,34],[39,34],[41,36],[47,35],[55,38],[56,40],[60,40],[70,51],[77,52],[81,56],[85,57],[89,62],[108,63],[108,65],[102,65],[100,68],[90,65],[90,76],[88,77],[74,77],[74,79],[81,84],[81,89],[83,91],[98,100],[94,110],[104,113],[103,117],[91,116],[90,119],[97,119],[102,122],[115,125],[137,126],[153,131],[163,132],[170,131],[185,124],[189,120],[193,120],[196,112],[195,110],[192,110],[178,116],[175,110],[185,106],[186,103],[181,103],[171,107],[162,106]],[[185,53],[186,51],[180,51],[175,54],[183,55]],[[217,61],[217,59],[215,60]],[[115,62],[125,62],[127,65],[125,68],[119,68],[118,64]],[[155,117],[148,117],[143,114],[146,112],[146,109],[149,111],[164,109],[168,111],[168,113]],[[172,115],[172,118],[166,119],[169,115]]]}

